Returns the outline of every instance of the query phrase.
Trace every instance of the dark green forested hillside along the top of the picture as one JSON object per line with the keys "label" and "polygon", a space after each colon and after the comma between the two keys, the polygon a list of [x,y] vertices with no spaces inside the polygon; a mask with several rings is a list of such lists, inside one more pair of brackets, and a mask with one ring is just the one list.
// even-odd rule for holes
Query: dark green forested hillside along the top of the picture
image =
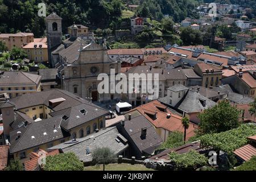
{"label": "dark green forested hillside along the top of the picture", "polygon": [[[197,18],[195,8],[212,0],[0,0],[0,32],[34,32],[43,36],[44,18],[38,16],[38,3],[47,4],[47,14],[55,11],[63,18],[63,32],[76,22],[91,28],[118,27],[125,4],[140,5],[137,14],[152,19],[170,15],[175,22],[189,16]],[[216,0],[246,4],[256,9],[255,0]],[[245,3],[246,1],[246,3]]]}

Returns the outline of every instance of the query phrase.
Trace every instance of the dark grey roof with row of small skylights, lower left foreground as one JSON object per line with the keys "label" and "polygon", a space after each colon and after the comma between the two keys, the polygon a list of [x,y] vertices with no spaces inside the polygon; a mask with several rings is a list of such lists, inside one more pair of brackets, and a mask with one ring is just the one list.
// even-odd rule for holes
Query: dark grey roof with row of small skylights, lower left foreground
{"label": "dark grey roof with row of small skylights, lower left foreground", "polygon": [[[68,137],[69,134],[60,128],[61,117],[49,118],[33,122],[26,127],[20,127],[10,133],[10,153],[39,146],[43,143],[52,142],[57,139]],[[56,130],[56,131],[54,131]],[[20,138],[17,139],[17,132]],[[46,135],[44,135],[46,133]],[[33,139],[32,136],[35,138]]]}

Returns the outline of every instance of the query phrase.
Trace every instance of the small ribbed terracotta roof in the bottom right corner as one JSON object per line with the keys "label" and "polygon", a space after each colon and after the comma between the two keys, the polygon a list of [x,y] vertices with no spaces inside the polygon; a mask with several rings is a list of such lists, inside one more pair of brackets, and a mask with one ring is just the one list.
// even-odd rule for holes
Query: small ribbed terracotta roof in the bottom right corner
{"label": "small ribbed terracotta roof in the bottom right corner", "polygon": [[246,144],[246,146],[237,148],[237,150],[234,151],[234,154],[247,161],[250,160],[252,156],[256,155],[256,148],[251,144]]}

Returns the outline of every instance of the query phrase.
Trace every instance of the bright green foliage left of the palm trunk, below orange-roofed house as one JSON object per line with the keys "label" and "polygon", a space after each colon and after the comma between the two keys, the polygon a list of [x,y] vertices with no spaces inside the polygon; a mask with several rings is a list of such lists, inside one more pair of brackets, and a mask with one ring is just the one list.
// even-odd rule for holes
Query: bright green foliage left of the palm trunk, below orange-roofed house
{"label": "bright green foliage left of the palm trunk, below orange-roofed house", "polygon": [[183,133],[179,131],[174,131],[172,132],[166,142],[164,142],[161,146],[160,149],[162,148],[176,148],[179,146],[183,145]]}

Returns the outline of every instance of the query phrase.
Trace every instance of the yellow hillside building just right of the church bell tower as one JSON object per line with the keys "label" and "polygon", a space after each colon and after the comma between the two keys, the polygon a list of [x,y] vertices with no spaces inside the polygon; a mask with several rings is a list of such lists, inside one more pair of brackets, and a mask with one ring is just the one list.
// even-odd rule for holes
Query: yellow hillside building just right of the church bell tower
{"label": "yellow hillside building just right of the church bell tower", "polygon": [[68,34],[72,35],[74,31],[74,27],[76,27],[76,34],[77,37],[80,37],[84,40],[92,39],[92,32],[89,31],[89,28],[82,25],[82,24],[73,24],[72,26],[68,27]]}

